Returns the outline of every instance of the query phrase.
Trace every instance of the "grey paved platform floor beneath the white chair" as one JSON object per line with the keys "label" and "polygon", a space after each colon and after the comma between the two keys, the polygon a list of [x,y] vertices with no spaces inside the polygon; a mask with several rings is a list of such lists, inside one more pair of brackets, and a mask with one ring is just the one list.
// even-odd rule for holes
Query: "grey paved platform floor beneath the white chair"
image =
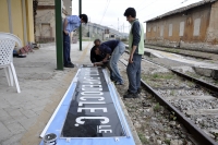
{"label": "grey paved platform floor beneath the white chair", "polygon": [[[72,45],[73,63],[89,63],[93,43]],[[0,145],[37,145],[38,137],[68,89],[77,68],[56,70],[56,47],[46,46],[26,58],[14,58],[21,94],[8,86],[0,70]]]}

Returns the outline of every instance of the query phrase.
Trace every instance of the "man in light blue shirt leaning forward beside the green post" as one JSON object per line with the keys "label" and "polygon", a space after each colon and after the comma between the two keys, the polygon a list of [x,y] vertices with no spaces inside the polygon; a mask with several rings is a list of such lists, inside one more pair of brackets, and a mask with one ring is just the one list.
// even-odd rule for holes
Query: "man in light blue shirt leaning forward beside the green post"
{"label": "man in light blue shirt leaning forward beside the green post", "polygon": [[63,21],[63,60],[65,68],[74,68],[71,62],[71,32],[75,31],[81,23],[87,23],[88,17],[86,14],[70,15]]}

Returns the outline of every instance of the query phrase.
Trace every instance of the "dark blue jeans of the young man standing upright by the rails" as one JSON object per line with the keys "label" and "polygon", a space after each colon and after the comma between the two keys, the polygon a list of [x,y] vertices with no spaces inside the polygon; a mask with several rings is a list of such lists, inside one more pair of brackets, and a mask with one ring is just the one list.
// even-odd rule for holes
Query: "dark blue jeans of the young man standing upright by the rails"
{"label": "dark blue jeans of the young man standing upright by the rails", "polygon": [[141,87],[141,61],[142,55],[133,55],[133,63],[128,64],[126,73],[130,93],[137,93]]}

